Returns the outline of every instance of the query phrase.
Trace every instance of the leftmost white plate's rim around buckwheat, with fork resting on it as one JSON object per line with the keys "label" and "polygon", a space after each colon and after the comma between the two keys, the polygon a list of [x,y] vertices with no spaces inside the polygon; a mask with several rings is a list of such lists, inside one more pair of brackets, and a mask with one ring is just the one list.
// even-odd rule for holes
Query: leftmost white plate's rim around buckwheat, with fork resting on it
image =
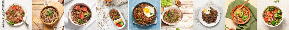
{"label": "leftmost white plate's rim around buckwheat, with fork resting on it", "polygon": [[[18,4],[18,3],[13,3],[13,4],[14,4],[14,5],[19,5],[19,6],[21,6],[21,7],[23,8],[24,13],[25,13],[25,16],[23,17],[23,20],[25,21],[26,18],[27,18],[27,12],[26,12],[26,9],[24,8],[24,6],[22,6],[22,5]],[[13,5],[13,4],[11,4],[11,5]],[[10,8],[11,5],[8,5],[8,7],[6,8],[5,12]],[[7,17],[7,16],[6,16],[6,14],[5,14],[5,20],[6,20],[6,17]],[[6,22],[8,23],[9,21],[6,20]],[[13,26],[18,26],[18,25],[21,25],[21,24],[23,24],[23,21],[22,21],[21,23],[14,24]],[[9,25],[10,25],[10,24],[9,24]]]}

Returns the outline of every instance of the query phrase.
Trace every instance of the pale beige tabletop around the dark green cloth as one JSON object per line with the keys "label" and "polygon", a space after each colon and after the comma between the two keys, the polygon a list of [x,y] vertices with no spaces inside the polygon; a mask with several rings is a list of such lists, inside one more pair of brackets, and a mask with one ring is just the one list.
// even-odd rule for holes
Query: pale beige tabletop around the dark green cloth
{"label": "pale beige tabletop around the dark green cloth", "polygon": [[[232,1],[235,1],[235,0],[225,0],[225,12],[227,12],[228,10],[228,5],[232,2]],[[247,0],[244,0],[244,1],[247,1]],[[257,0],[249,0],[248,3],[252,4],[254,7],[257,8]],[[231,27],[233,27],[234,29],[236,29],[237,27],[237,23],[235,23],[232,19],[230,18],[225,18],[225,25],[230,29]],[[229,29],[226,29],[226,30],[229,30]]]}

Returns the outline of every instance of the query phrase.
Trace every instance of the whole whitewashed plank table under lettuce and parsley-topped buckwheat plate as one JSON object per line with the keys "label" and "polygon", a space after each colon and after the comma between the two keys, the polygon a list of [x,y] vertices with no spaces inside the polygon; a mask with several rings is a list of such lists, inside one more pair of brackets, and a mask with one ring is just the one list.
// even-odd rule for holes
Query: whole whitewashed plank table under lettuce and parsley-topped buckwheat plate
{"label": "whole whitewashed plank table under lettuce and parsley-topped buckwheat plate", "polygon": [[[179,22],[179,24],[177,25],[169,25],[169,26],[162,26],[161,30],[176,30],[176,28],[179,28],[181,30],[192,30],[193,29],[193,0],[179,0],[182,3],[181,7],[178,7],[176,4],[176,1],[174,1],[174,5],[173,6],[169,6],[169,7],[164,7],[165,9],[168,9],[170,7],[176,7],[179,8],[181,10],[181,12],[183,13],[183,18],[182,20]],[[163,12],[161,10],[161,12]]]}

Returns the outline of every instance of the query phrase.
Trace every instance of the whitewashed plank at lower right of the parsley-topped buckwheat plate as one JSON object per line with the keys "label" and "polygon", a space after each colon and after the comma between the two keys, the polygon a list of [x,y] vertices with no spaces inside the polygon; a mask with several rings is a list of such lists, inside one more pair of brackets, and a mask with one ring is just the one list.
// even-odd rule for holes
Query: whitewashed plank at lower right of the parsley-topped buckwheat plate
{"label": "whitewashed plank at lower right of the parsley-topped buckwheat plate", "polygon": [[183,14],[183,18],[179,23],[193,23],[193,14]]}

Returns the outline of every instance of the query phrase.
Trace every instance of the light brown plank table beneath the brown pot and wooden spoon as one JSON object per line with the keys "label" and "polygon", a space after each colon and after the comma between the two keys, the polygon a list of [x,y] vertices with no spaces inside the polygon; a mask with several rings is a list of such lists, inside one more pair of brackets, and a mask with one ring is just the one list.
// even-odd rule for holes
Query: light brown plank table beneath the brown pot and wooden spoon
{"label": "light brown plank table beneath the brown pot and wooden spoon", "polygon": [[[41,30],[44,30],[43,29],[44,23],[41,22],[39,14],[40,14],[41,9],[43,7],[45,7],[44,2],[45,2],[45,0],[32,0],[32,16],[37,17],[38,24],[39,24]],[[38,30],[38,29],[39,28],[36,25],[36,23],[34,21],[32,21],[32,30]],[[62,30],[64,30],[64,28]]]}

